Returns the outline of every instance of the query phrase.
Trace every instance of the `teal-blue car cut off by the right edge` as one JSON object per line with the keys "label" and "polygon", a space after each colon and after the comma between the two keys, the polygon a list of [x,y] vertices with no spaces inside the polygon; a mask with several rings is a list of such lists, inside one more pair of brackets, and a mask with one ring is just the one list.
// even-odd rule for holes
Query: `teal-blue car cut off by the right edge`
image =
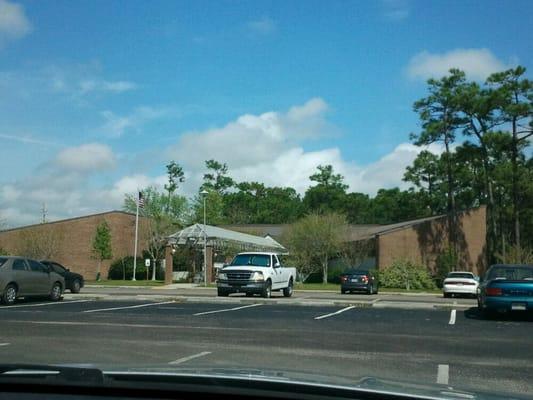
{"label": "teal-blue car cut off by the right edge", "polygon": [[478,308],[486,316],[533,312],[533,265],[492,265],[479,285]]}

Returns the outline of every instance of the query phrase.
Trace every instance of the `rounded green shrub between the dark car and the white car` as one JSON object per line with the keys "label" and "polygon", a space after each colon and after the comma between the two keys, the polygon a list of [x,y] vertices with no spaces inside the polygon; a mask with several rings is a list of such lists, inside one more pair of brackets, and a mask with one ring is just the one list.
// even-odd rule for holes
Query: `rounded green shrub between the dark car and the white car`
{"label": "rounded green shrub between the dark car and the white car", "polygon": [[435,282],[426,267],[408,260],[395,260],[379,273],[380,285],[387,288],[435,289]]}

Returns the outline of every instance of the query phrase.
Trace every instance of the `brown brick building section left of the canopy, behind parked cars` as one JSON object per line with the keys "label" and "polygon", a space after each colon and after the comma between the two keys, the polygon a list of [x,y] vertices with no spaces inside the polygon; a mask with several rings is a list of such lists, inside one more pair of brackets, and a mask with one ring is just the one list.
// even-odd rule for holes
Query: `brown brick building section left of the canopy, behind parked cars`
{"label": "brown brick building section left of the canopy, behind parked cars", "polygon": [[[113,260],[133,255],[135,238],[135,214],[124,211],[109,211],[101,214],[70,218],[45,224],[29,225],[0,231],[0,248],[10,254],[20,254],[24,242],[39,240],[53,247],[53,259],[68,266],[72,271],[81,273],[85,279],[96,278],[98,262],[92,258],[92,241],[96,227],[106,221],[111,230]],[[139,217],[142,231],[144,219]],[[139,238],[139,255],[145,243]],[[102,262],[102,277],[107,278],[113,260]]]}

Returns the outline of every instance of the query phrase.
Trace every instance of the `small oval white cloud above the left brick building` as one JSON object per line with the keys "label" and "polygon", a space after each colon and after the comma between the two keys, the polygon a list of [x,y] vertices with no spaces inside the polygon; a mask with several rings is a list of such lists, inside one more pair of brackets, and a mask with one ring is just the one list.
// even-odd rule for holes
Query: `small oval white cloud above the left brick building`
{"label": "small oval white cloud above the left brick building", "polygon": [[70,172],[105,171],[115,167],[116,159],[111,148],[100,143],[82,144],[62,150],[55,164]]}

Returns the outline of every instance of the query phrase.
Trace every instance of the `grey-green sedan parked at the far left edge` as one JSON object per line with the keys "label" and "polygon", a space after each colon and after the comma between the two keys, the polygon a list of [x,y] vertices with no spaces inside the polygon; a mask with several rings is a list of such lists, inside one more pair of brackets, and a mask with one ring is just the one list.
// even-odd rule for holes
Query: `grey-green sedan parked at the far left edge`
{"label": "grey-green sedan parked at the far left edge", "polygon": [[61,299],[65,279],[39,261],[23,257],[0,257],[0,295],[11,305],[17,297],[49,296]]}

